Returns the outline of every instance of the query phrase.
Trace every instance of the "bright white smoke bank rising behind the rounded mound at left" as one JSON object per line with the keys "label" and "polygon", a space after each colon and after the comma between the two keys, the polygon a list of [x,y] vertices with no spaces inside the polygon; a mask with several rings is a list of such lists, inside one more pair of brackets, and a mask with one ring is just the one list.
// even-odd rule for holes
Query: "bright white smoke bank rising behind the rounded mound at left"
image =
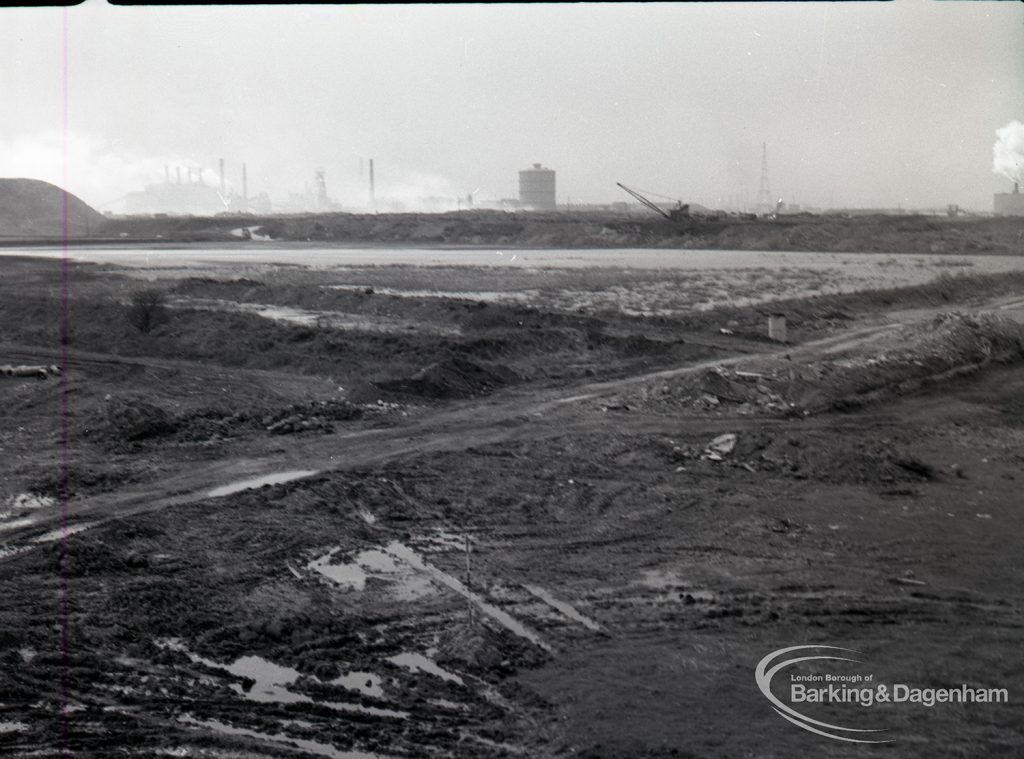
{"label": "bright white smoke bank rising behind the rounded mound at left", "polygon": [[[66,153],[67,150],[67,153]],[[67,158],[67,161],[66,161]],[[174,155],[146,156],[137,151],[99,143],[92,137],[56,129],[0,139],[0,177],[42,179],[67,189],[99,211],[119,211],[128,193],[164,181],[164,167],[176,181],[187,170],[202,172],[203,181],[219,186],[217,171]],[[230,189],[228,188],[228,192]]]}

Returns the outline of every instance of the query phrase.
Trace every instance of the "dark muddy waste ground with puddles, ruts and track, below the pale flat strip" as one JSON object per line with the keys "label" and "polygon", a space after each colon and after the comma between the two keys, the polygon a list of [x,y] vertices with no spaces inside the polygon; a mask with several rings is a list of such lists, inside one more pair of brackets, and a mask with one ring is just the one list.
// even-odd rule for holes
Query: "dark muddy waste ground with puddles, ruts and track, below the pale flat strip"
{"label": "dark muddy waste ground with puddles, ruts and track, below the pale flat strip", "polygon": [[[0,753],[1024,751],[1024,276],[645,317],[3,266],[0,364],[63,371],[0,377]],[[1010,701],[838,742],[758,690],[801,644]]]}

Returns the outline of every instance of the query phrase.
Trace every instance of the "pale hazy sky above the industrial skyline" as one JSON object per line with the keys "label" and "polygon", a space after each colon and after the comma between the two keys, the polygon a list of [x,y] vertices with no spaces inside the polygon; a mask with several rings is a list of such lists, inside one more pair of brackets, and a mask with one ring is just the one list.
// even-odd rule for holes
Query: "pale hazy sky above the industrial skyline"
{"label": "pale hazy sky above the industrial skyline", "polygon": [[[991,209],[995,130],[1024,120],[1017,2],[0,10],[0,176],[97,206],[163,166],[227,162],[284,198],[314,168],[343,204],[772,193],[827,206]],[[67,162],[65,161],[67,155]],[[172,169],[173,171],[173,169]],[[114,207],[105,205],[104,207]]]}

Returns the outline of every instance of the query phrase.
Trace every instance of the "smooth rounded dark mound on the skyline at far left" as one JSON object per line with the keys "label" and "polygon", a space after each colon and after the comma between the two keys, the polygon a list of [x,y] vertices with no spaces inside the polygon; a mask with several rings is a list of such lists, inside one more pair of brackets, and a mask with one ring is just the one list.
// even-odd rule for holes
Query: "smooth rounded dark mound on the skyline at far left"
{"label": "smooth rounded dark mound on the skyline at far left", "polygon": [[82,237],[105,222],[101,213],[49,182],[0,179],[0,237]]}

